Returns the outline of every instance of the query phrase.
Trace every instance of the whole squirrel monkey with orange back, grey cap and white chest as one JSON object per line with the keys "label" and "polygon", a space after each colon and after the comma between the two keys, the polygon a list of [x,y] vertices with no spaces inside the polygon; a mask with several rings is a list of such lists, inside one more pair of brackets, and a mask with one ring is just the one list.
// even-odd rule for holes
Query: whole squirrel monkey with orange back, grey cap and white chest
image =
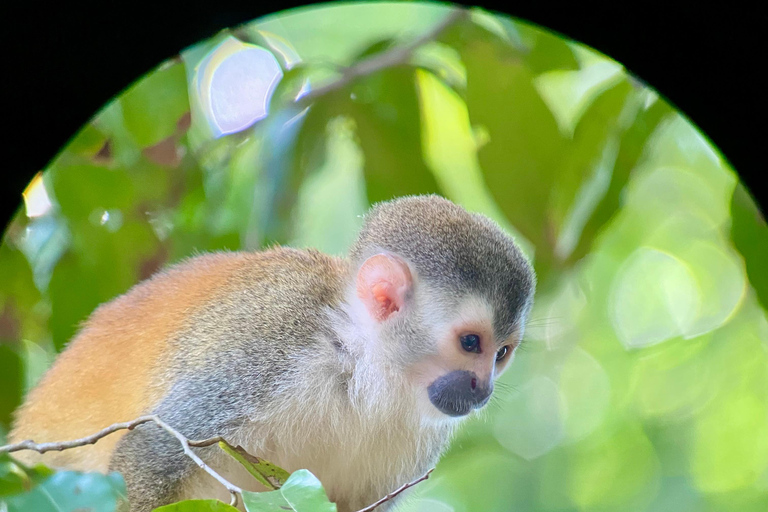
{"label": "whole squirrel monkey with orange back, grey cap and white chest", "polygon": [[[63,441],[154,413],[306,468],[340,512],[426,472],[520,343],[533,270],[493,221],[439,196],[376,205],[348,258],[194,257],[100,306],[19,409],[11,440]],[[263,490],[217,448],[232,483]],[[26,462],[120,471],[131,510],[226,489],[153,423]]]}

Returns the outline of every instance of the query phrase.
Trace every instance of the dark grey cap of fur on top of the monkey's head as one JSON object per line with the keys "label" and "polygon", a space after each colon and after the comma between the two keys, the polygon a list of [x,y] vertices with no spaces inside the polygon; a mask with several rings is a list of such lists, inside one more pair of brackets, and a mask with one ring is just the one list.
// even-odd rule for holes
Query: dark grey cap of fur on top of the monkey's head
{"label": "dark grey cap of fur on top of the monkey's head", "polygon": [[486,298],[498,339],[522,327],[517,323],[530,308],[536,278],[512,238],[488,217],[437,195],[379,203],[350,250],[353,268],[382,250],[405,259],[432,286]]}

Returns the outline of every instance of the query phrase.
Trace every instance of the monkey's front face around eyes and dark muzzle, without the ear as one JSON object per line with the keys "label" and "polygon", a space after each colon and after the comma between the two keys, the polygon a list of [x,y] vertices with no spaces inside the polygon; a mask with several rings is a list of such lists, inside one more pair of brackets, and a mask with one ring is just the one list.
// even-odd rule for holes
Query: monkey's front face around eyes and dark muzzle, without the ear
{"label": "monkey's front face around eyes and dark muzzle, without the ear", "polygon": [[519,344],[519,330],[505,339],[494,335],[486,301],[468,298],[452,309],[447,321],[432,329],[432,354],[411,371],[422,413],[434,419],[466,416],[488,403],[494,381]]}

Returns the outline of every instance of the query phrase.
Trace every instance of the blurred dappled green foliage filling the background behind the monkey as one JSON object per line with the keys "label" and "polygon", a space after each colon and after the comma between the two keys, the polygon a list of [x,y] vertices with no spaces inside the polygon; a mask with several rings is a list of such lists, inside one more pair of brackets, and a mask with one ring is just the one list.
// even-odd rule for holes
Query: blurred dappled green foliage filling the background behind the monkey
{"label": "blurred dappled green foliage filling the background behind the monkey", "polygon": [[[436,192],[512,233],[540,286],[494,401],[398,510],[768,510],[768,229],[663,98],[473,11],[409,62],[293,102],[447,12],[268,17],[100,111],[0,247],[0,433],[78,322],[164,265],[274,242],[342,254],[371,203]],[[201,77],[233,41],[284,74],[269,116],[219,136]]]}

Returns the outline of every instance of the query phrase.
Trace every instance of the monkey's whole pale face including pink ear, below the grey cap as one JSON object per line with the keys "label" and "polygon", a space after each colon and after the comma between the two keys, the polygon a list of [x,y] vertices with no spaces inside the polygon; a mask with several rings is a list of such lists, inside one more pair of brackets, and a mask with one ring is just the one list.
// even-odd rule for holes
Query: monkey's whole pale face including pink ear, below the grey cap
{"label": "monkey's whole pale face including pink ear, below the grey cap", "polygon": [[404,371],[422,417],[446,421],[488,402],[519,344],[524,307],[506,314],[485,297],[420,281],[404,259],[386,252],[365,260],[355,291],[366,311],[355,316],[370,325],[367,338],[379,340],[375,350],[387,366]]}

